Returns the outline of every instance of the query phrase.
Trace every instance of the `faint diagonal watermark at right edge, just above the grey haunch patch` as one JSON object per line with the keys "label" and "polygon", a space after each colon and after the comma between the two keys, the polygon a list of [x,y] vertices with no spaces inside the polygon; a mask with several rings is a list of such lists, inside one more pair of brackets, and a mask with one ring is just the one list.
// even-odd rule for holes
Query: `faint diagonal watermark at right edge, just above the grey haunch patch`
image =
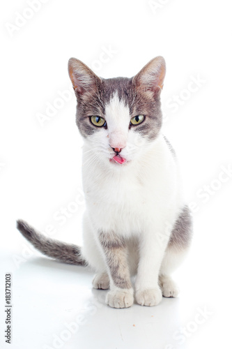
{"label": "faint diagonal watermark at right edge, just above the grey haunch patch", "polygon": [[217,178],[214,178],[208,184],[204,184],[196,191],[197,200],[189,202],[189,207],[193,213],[199,211],[202,205],[206,205],[210,198],[224,187],[232,178],[232,164],[221,165]]}

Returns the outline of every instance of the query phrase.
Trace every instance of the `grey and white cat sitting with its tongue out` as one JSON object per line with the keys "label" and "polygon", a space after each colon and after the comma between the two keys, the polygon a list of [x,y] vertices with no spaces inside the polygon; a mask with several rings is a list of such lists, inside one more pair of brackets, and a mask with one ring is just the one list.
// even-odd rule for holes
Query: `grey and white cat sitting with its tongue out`
{"label": "grey and white cat sitting with its tongue out", "polygon": [[92,267],[93,288],[109,289],[111,307],[177,297],[171,274],[190,248],[192,216],[175,151],[161,132],[164,58],[131,78],[103,79],[75,58],[68,72],[84,139],[84,246],[44,237],[22,220],[17,228],[45,255]]}

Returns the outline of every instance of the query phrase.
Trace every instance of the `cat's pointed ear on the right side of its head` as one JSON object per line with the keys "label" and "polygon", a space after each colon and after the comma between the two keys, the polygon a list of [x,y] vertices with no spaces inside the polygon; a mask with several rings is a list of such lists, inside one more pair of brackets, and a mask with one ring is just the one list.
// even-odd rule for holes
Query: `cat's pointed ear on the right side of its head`
{"label": "cat's pointed ear on the right side of its head", "polygon": [[133,82],[141,91],[161,91],[164,85],[166,64],[161,56],[155,57],[134,76]]}

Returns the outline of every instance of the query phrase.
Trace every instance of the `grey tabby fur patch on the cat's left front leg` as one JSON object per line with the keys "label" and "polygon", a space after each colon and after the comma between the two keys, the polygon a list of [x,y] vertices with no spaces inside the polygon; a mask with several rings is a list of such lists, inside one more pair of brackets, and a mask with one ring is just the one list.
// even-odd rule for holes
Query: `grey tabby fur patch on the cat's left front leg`
{"label": "grey tabby fur patch on the cat's left front leg", "polygon": [[118,288],[131,288],[130,272],[127,265],[127,248],[124,239],[114,233],[100,232],[100,243],[106,256],[107,266]]}

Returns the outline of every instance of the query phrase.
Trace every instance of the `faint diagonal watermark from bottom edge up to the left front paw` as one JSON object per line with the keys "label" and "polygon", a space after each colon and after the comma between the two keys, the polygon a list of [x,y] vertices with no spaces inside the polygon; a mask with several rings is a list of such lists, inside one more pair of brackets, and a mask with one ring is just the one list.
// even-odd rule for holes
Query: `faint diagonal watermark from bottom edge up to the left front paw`
{"label": "faint diagonal watermark from bottom edge up to the left front paw", "polygon": [[[102,295],[104,297],[104,295]],[[65,343],[67,343],[72,336],[74,336],[79,329],[81,329],[89,321],[89,317],[95,315],[98,309],[102,308],[103,302],[99,302],[101,295],[99,294],[98,300],[93,299],[91,302],[86,302],[84,304],[84,313],[79,313],[75,316],[72,322],[64,322],[63,329],[59,334],[52,334],[52,343],[44,344],[42,349],[60,349],[63,348]]]}

